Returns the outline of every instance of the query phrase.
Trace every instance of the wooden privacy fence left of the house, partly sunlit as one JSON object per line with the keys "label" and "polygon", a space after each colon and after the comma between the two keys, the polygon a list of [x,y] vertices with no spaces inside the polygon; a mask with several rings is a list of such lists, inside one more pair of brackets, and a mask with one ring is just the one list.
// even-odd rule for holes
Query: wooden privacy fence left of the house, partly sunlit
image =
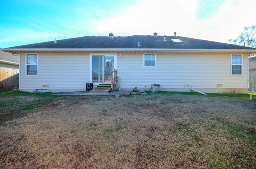
{"label": "wooden privacy fence left of the house, partly sunlit", "polygon": [[19,87],[19,69],[0,67],[0,90]]}

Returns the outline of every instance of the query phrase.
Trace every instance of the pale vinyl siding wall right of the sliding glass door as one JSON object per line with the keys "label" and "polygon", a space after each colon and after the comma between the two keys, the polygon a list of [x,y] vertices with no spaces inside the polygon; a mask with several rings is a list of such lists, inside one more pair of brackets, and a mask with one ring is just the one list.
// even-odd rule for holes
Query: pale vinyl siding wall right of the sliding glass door
{"label": "pale vinyl siding wall right of the sliding glass door", "polygon": [[[121,88],[148,90],[151,84],[161,89],[247,88],[247,55],[243,55],[243,75],[231,75],[230,54],[156,54],[156,67],[143,67],[143,54],[123,54],[118,57],[117,74]],[[146,87],[145,87],[146,85]]]}

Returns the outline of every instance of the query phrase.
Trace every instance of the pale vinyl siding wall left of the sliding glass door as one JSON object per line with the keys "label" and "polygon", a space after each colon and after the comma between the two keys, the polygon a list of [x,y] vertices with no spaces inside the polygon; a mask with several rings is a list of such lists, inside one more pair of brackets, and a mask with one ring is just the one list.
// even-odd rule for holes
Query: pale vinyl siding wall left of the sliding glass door
{"label": "pale vinyl siding wall left of the sliding glass door", "polygon": [[[38,54],[38,76],[27,76],[25,54],[20,55],[20,89],[86,89],[90,82],[89,55]],[[64,90],[63,90],[64,91]]]}

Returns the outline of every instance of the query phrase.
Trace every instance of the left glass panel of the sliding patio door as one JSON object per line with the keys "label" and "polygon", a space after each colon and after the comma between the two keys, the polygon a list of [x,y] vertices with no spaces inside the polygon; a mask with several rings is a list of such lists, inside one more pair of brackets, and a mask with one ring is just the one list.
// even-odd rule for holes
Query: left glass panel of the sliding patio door
{"label": "left glass panel of the sliding patio door", "polygon": [[92,56],[92,82],[103,83],[103,57]]}

